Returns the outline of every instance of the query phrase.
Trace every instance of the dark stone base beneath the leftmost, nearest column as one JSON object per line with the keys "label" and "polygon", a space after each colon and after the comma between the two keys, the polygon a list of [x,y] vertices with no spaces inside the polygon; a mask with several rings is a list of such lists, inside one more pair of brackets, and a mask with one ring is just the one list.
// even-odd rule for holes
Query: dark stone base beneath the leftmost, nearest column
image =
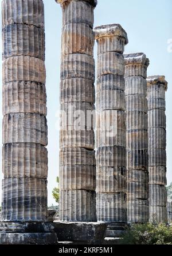
{"label": "dark stone base beneath the leftmost, nearest column", "polygon": [[0,244],[57,244],[52,223],[0,223]]}

